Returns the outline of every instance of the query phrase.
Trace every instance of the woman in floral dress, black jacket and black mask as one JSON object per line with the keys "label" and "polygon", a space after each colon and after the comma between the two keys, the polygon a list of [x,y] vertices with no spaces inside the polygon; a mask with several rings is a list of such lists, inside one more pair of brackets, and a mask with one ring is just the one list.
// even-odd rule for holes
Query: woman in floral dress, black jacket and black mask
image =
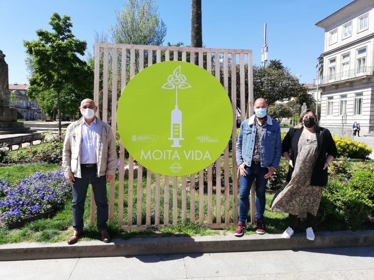
{"label": "woman in floral dress, black jacket and black mask", "polygon": [[300,114],[299,127],[289,129],[282,152],[289,162],[288,184],[274,199],[271,209],[289,214],[289,227],[283,238],[294,234],[297,216],[307,212],[306,235],[314,240],[312,227],[327,184],[327,166],[337,155],[335,142],[328,129],[318,126],[314,111],[308,109]]}

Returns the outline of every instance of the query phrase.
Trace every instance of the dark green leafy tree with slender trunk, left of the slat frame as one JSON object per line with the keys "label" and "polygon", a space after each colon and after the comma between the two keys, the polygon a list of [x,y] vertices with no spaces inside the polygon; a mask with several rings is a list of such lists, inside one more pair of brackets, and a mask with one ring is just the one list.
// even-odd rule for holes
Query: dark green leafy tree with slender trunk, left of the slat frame
{"label": "dark green leafy tree with slender trunk, left of the slat frame", "polygon": [[70,16],[53,13],[49,25],[54,32],[39,29],[37,41],[24,41],[26,53],[32,60],[30,87],[27,95],[34,99],[40,92],[55,92],[61,140],[60,94],[71,87],[76,91],[88,91],[93,86],[93,72],[78,55],[84,56],[86,41],[80,41],[71,32]]}

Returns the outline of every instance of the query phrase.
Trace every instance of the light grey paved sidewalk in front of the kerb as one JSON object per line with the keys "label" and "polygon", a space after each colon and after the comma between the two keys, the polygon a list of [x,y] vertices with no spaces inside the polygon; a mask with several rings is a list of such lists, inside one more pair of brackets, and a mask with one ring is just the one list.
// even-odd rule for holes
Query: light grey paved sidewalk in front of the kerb
{"label": "light grey paved sidewalk in front of the kerb", "polygon": [[[374,247],[0,262],[17,279],[374,279]],[[208,278],[207,278],[208,277]]]}

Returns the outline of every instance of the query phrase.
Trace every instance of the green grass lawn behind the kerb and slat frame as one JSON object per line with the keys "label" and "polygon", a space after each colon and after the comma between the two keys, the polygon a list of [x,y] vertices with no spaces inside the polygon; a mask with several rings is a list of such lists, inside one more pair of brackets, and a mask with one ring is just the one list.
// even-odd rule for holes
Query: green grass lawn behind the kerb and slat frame
{"label": "green grass lawn behind the kerb and slat frame", "polygon": [[[19,183],[21,179],[25,176],[28,176],[34,172],[45,170],[45,171],[53,171],[59,169],[59,165],[55,164],[19,164],[10,167],[0,167],[0,178],[9,180],[12,183]],[[153,182],[152,182],[152,202],[154,201],[154,174],[153,174]],[[192,224],[189,222],[182,223],[181,221],[181,179],[178,182],[178,224],[171,225],[167,227],[162,227],[159,229],[145,229],[145,230],[129,230],[123,231],[117,226],[118,221],[118,180],[116,180],[116,200],[114,205],[114,221],[108,223],[108,231],[114,238],[122,238],[128,239],[131,237],[159,237],[159,236],[193,236],[193,235],[225,235],[225,234],[232,234],[235,230],[235,227],[228,227],[224,230],[211,230],[206,227],[200,227],[196,224]],[[163,180],[163,177],[162,177]],[[163,181],[161,182],[161,186],[163,186]],[[172,182],[170,184],[169,190],[169,222],[172,222]],[[136,223],[136,214],[137,214],[137,180],[134,180],[134,212],[133,212],[133,222]],[[143,188],[142,188],[142,223],[145,223],[145,196],[146,196],[146,188],[145,188],[145,180],[143,180]],[[127,189],[128,189],[128,181],[125,179],[125,202],[124,202],[124,220],[127,220]],[[107,184],[107,191],[109,193],[109,184]],[[161,188],[160,192],[160,201],[163,201],[164,194],[163,187]],[[90,209],[90,198],[91,194],[90,191],[88,192],[86,204],[85,204],[85,227],[84,227],[84,235],[82,236],[82,240],[95,240],[98,239],[98,233],[96,226],[92,226],[89,224],[89,209]],[[224,221],[224,196],[221,196],[222,199],[222,217],[221,220]],[[269,211],[269,205],[272,200],[272,195],[267,194],[267,208],[265,211],[265,219],[267,224],[267,233],[281,233],[285,229],[286,225],[286,214],[282,213],[271,213]],[[199,213],[199,193],[198,190],[195,192],[195,213],[196,218],[198,221],[198,213]],[[205,222],[207,221],[207,195],[204,195],[205,201]],[[230,195],[230,201],[232,203],[232,195]],[[215,205],[215,191],[213,191],[213,205]],[[163,223],[163,209],[164,205],[161,203],[160,205],[160,223]],[[190,220],[189,217],[189,210],[190,210],[190,192],[187,191],[187,220]],[[152,213],[152,223],[154,222],[154,203],[151,209]],[[233,220],[233,211],[230,211],[230,221]],[[213,222],[216,221],[216,213],[214,207],[213,213]],[[6,227],[0,228],[0,244],[3,243],[18,243],[18,242],[58,242],[58,241],[65,241],[71,235],[73,228],[71,227],[72,223],[72,214],[71,214],[71,199],[67,201],[64,205],[64,208],[56,213],[50,219],[41,219],[37,221],[33,221],[31,223],[26,224],[25,226],[19,229],[9,230]],[[255,227],[248,225],[246,234],[253,234],[255,233]]]}

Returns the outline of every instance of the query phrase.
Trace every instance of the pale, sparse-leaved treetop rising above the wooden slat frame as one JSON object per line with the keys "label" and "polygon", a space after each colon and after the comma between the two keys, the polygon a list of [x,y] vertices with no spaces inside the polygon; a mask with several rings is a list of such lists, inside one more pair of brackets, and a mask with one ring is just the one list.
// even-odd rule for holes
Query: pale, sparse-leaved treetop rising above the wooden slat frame
{"label": "pale, sparse-leaved treetop rising above the wooden slat frame", "polygon": [[161,45],[166,25],[153,0],[127,0],[123,9],[114,10],[116,23],[110,26],[111,37],[117,44]]}

